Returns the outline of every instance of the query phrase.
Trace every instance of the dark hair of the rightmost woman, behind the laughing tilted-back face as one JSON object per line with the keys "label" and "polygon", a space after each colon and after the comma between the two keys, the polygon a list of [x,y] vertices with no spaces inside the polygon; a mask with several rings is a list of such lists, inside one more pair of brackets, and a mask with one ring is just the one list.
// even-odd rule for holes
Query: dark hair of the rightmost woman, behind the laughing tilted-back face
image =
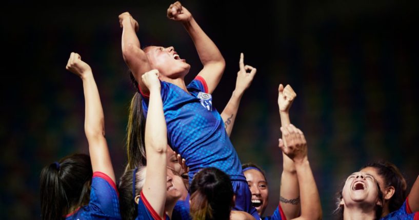
{"label": "dark hair of the rightmost woman, behind the laughing tilted-back face", "polygon": [[361,169],[372,167],[377,169],[378,175],[384,179],[384,186],[394,187],[394,194],[389,199],[389,212],[396,211],[399,209],[406,200],[407,197],[407,184],[406,179],[400,170],[392,163],[389,162],[373,162],[365,165]]}

